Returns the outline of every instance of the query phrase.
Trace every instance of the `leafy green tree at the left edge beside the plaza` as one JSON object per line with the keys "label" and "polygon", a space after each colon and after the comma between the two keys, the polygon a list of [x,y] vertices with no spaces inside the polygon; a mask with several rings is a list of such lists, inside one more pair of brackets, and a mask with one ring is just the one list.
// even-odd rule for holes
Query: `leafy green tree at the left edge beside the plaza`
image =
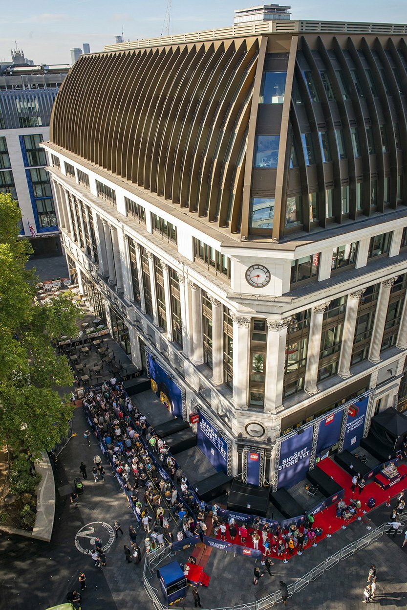
{"label": "leafy green tree at the left edge beside the plaza", "polygon": [[21,212],[1,193],[0,219],[0,445],[38,456],[65,436],[73,414],[58,394],[73,373],[52,341],[76,336],[79,308],[69,292],[34,300],[38,278],[26,270],[32,248],[19,237]]}

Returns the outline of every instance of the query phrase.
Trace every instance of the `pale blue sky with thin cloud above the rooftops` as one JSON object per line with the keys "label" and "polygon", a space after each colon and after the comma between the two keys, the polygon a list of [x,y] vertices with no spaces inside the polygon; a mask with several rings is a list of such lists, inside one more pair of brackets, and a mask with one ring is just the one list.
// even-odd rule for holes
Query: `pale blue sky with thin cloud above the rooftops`
{"label": "pale blue sky with thin cloud above the rooftops", "polygon": [[[275,1],[275,0],[274,0]],[[9,61],[11,49],[23,49],[34,63],[70,63],[70,49],[90,43],[91,52],[102,51],[124,40],[161,35],[168,0],[19,0],[2,10],[0,61]],[[281,4],[289,4],[283,2]],[[172,0],[170,34],[226,27],[233,23],[233,11],[262,4],[244,0]],[[386,10],[384,10],[386,9]],[[293,19],[377,21],[407,23],[405,0],[296,0]],[[16,43],[15,43],[16,41]]]}

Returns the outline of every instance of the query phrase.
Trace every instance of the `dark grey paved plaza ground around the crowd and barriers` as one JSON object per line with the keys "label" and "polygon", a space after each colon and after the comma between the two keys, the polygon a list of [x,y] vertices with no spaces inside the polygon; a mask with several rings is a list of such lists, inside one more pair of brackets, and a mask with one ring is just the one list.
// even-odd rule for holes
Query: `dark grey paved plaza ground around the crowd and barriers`
{"label": "dark grey paved plaza ground around the crowd and barriers", "polygon": [[[163,409],[163,420],[166,411],[151,392],[133,397],[133,402],[147,417],[158,417],[158,409]],[[147,409],[148,405],[148,409]],[[147,413],[147,411],[149,411]],[[155,415],[154,415],[155,414]],[[158,414],[158,415],[157,415]],[[126,564],[123,545],[129,541],[127,534],[130,523],[135,518],[130,513],[124,495],[110,467],[106,466],[104,482],[94,483],[91,478],[93,457],[100,453],[92,437],[88,448],[83,431],[85,417],[78,407],[74,413],[74,431],[77,436],[70,440],[60,454],[55,465],[55,486],[57,488],[57,511],[54,533],[51,543],[23,539],[9,534],[0,534],[0,608],[1,610],[44,610],[51,605],[65,601],[69,590],[78,586],[77,577],[81,570],[87,575],[87,590],[83,595],[83,610],[130,610],[133,608],[152,608],[144,591],[141,564]],[[183,452],[181,456],[185,471],[193,471],[199,476],[210,472],[206,458],[198,448]],[[178,456],[177,456],[178,457]],[[69,506],[69,493],[73,479],[79,476],[79,464],[83,461],[88,467],[88,479],[85,491],[80,496],[79,506]],[[193,478],[193,476],[191,476]],[[389,518],[389,509],[381,507],[369,514],[370,526],[380,525]],[[105,523],[113,526],[118,520],[124,531],[118,540],[113,540],[106,552],[107,565],[96,569],[89,555],[81,553],[75,546],[76,534],[89,531],[89,524]],[[368,524],[369,525],[369,524]],[[85,527],[87,526],[87,528]],[[109,528],[101,527],[104,544],[110,544]],[[99,529],[95,530],[99,531]],[[309,572],[313,567],[333,554],[335,551],[367,533],[366,523],[354,522],[345,530],[340,530],[330,539],[324,539],[316,548],[306,550],[301,557],[296,557],[288,564],[275,561],[274,575],[267,573],[260,579],[258,586],[253,586],[252,576],[254,562],[242,556],[225,554],[222,551],[208,550],[205,553],[205,572],[211,576],[207,589],[200,589],[203,608],[220,608],[242,603],[250,603],[278,589],[280,579],[290,584]],[[139,543],[143,548],[143,532],[139,533]],[[327,610],[351,610],[362,608],[362,592],[366,583],[370,564],[375,563],[378,570],[378,588],[375,603],[393,608],[405,608],[407,604],[407,546],[401,548],[402,536],[397,538],[382,536],[364,550],[358,551],[325,575],[310,583],[308,587],[289,598],[288,606],[306,610],[324,608]],[[82,538],[82,548],[86,549],[87,540]],[[196,549],[199,557],[202,550]],[[188,551],[177,555],[179,561],[188,556]],[[143,556],[144,561],[144,556]],[[259,563],[257,563],[259,565]],[[191,589],[179,608],[193,607]]]}

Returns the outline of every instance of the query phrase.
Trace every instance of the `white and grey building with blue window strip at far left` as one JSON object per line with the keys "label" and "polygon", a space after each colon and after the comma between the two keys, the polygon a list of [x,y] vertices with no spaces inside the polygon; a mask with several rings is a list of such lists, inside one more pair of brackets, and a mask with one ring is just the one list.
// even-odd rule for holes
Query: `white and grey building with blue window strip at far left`
{"label": "white and grey building with blue window strip at far left", "polygon": [[69,66],[26,62],[21,51],[13,52],[9,65],[0,65],[0,192],[18,201],[21,235],[31,239],[32,226],[35,250],[54,252],[59,243],[54,193],[39,145],[49,139],[52,106]]}

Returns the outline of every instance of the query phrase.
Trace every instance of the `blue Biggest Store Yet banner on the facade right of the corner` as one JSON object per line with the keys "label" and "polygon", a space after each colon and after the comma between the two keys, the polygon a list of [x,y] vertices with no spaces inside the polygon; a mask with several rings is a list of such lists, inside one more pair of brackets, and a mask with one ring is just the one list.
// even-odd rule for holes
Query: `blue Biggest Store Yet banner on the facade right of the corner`
{"label": "blue Biggest Store Yet banner on the facade right of the corner", "polygon": [[278,466],[278,486],[289,489],[305,479],[310,467],[314,426],[305,428],[302,434],[294,434],[281,441],[280,465]]}

